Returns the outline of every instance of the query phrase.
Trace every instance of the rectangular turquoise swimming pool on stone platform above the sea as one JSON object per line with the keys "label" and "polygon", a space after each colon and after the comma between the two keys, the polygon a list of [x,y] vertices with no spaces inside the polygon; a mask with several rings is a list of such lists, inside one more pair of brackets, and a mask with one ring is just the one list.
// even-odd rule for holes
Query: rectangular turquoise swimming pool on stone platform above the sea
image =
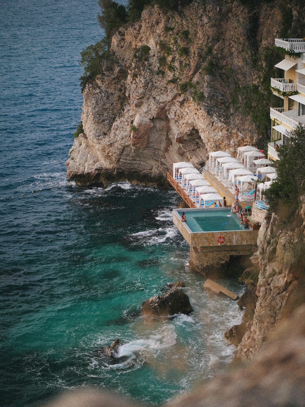
{"label": "rectangular turquoise swimming pool on stone platform above the sea", "polygon": [[[177,210],[181,216],[183,210]],[[186,226],[191,232],[225,232],[227,230],[244,230],[240,228],[240,220],[231,213],[231,209],[194,209],[184,210]]]}

